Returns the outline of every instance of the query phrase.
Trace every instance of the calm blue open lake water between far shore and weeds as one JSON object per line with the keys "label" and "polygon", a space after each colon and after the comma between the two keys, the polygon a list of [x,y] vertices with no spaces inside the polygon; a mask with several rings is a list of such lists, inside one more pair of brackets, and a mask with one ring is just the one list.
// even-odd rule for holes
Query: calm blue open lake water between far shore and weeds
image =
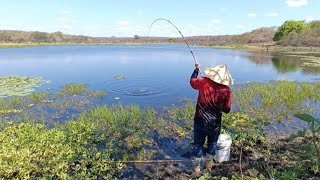
{"label": "calm blue open lake water between far shore and weeds", "polygon": [[[204,67],[227,64],[235,84],[273,80],[319,80],[320,67],[296,57],[270,53],[192,47]],[[0,49],[0,77],[43,77],[42,89],[61,90],[67,83],[105,91],[105,104],[171,106],[196,99],[189,85],[194,60],[187,46],[62,46]],[[117,80],[116,76],[126,79]],[[119,99],[118,99],[119,98]]]}

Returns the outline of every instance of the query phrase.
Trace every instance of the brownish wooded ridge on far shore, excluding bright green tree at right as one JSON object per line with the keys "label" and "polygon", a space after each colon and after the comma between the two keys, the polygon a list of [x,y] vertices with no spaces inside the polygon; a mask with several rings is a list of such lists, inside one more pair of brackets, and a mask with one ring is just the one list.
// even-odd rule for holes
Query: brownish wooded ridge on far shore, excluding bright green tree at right
{"label": "brownish wooded ridge on far shore, excluding bright green tree at right", "polygon": [[[213,45],[244,45],[270,44],[276,28],[259,28],[241,35],[193,36],[186,37],[190,44]],[[67,35],[62,32],[46,33],[38,31],[0,30],[0,43],[184,43],[182,38],[170,37],[90,37]]]}

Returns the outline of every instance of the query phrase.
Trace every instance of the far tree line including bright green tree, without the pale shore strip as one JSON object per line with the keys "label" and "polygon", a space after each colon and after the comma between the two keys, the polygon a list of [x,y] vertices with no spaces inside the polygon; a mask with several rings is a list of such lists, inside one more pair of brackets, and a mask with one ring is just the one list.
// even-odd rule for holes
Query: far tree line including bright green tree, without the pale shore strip
{"label": "far tree line including bright green tree, without the pale shore strip", "polygon": [[[285,21],[280,27],[263,27],[239,35],[186,37],[191,45],[283,45],[320,47],[320,21]],[[26,32],[0,30],[0,43],[184,43],[181,37],[90,37],[62,32]]]}

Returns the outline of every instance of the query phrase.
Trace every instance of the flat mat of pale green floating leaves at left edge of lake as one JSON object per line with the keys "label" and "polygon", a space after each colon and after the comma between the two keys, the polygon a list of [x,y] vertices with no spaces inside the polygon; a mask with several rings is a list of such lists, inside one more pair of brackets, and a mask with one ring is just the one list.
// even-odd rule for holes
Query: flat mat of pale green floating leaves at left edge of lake
{"label": "flat mat of pale green floating leaves at left edge of lake", "polygon": [[8,96],[27,96],[35,91],[35,87],[40,87],[48,83],[41,77],[2,77],[0,78],[0,98]]}

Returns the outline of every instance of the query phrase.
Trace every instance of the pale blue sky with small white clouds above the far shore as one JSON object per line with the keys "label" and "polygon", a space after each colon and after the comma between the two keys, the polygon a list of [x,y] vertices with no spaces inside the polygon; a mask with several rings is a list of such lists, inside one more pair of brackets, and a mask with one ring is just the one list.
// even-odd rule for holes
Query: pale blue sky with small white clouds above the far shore
{"label": "pale blue sky with small white clouds above the far shore", "polygon": [[[0,29],[145,36],[166,18],[184,36],[240,34],[286,20],[319,20],[320,0],[2,0]],[[150,36],[179,37],[167,22]]]}

